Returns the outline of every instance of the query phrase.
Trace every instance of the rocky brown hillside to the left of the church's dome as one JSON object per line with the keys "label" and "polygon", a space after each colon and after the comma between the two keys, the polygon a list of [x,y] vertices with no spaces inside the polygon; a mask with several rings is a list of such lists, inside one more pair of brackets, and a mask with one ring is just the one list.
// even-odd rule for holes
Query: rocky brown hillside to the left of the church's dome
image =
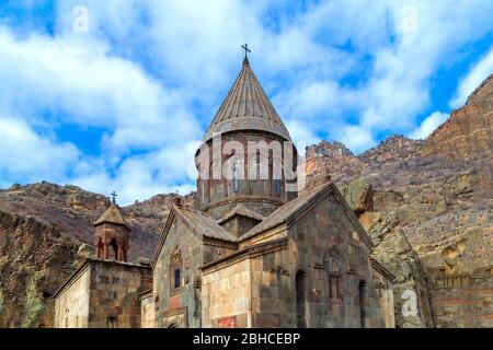
{"label": "rocky brown hillside to the left of the church's dome", "polygon": [[[131,225],[128,258],[150,258],[177,195],[122,208]],[[194,206],[195,194],[184,198]],[[92,253],[92,223],[108,198],[49,183],[0,190],[0,327],[50,327],[50,296]]]}

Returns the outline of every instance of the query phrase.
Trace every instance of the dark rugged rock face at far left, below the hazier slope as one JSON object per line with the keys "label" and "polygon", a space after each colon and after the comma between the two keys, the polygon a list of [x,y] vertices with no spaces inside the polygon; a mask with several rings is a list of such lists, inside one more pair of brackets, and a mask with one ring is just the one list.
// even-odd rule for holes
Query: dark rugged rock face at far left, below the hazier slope
{"label": "dark rugged rock face at far left, below the hazier slope", "polygon": [[0,211],[0,327],[50,327],[49,296],[83,255],[54,226]]}

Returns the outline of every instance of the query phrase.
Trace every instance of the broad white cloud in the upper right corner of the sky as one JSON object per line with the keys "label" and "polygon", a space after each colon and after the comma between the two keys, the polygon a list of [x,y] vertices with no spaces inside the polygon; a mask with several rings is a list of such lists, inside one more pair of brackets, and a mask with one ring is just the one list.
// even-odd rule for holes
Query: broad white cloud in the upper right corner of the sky
{"label": "broad white cloud in the upper right corner of the sky", "polygon": [[[405,32],[403,21],[411,5],[415,32]],[[491,2],[392,1],[387,4],[395,44],[375,54],[375,66],[364,100],[368,101],[360,122],[375,130],[411,128],[415,117],[429,106],[429,81],[440,65],[451,62],[461,45],[492,28]]]}

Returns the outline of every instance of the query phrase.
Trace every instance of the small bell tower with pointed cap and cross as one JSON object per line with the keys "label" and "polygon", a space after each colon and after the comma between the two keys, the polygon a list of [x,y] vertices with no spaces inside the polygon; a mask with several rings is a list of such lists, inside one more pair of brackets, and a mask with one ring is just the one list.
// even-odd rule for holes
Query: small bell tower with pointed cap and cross
{"label": "small bell tower with pointed cap and cross", "polygon": [[116,194],[110,208],[94,222],[96,257],[100,259],[127,261],[128,234],[131,231],[116,205]]}

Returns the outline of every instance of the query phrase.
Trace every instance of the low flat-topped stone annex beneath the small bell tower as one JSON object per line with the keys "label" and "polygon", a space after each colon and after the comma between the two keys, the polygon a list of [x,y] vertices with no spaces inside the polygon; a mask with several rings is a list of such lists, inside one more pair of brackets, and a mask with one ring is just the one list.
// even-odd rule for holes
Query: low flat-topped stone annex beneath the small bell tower
{"label": "low flat-topped stone annex beneath the small bell tower", "polygon": [[151,285],[150,267],[90,258],[55,295],[55,327],[138,328]]}

